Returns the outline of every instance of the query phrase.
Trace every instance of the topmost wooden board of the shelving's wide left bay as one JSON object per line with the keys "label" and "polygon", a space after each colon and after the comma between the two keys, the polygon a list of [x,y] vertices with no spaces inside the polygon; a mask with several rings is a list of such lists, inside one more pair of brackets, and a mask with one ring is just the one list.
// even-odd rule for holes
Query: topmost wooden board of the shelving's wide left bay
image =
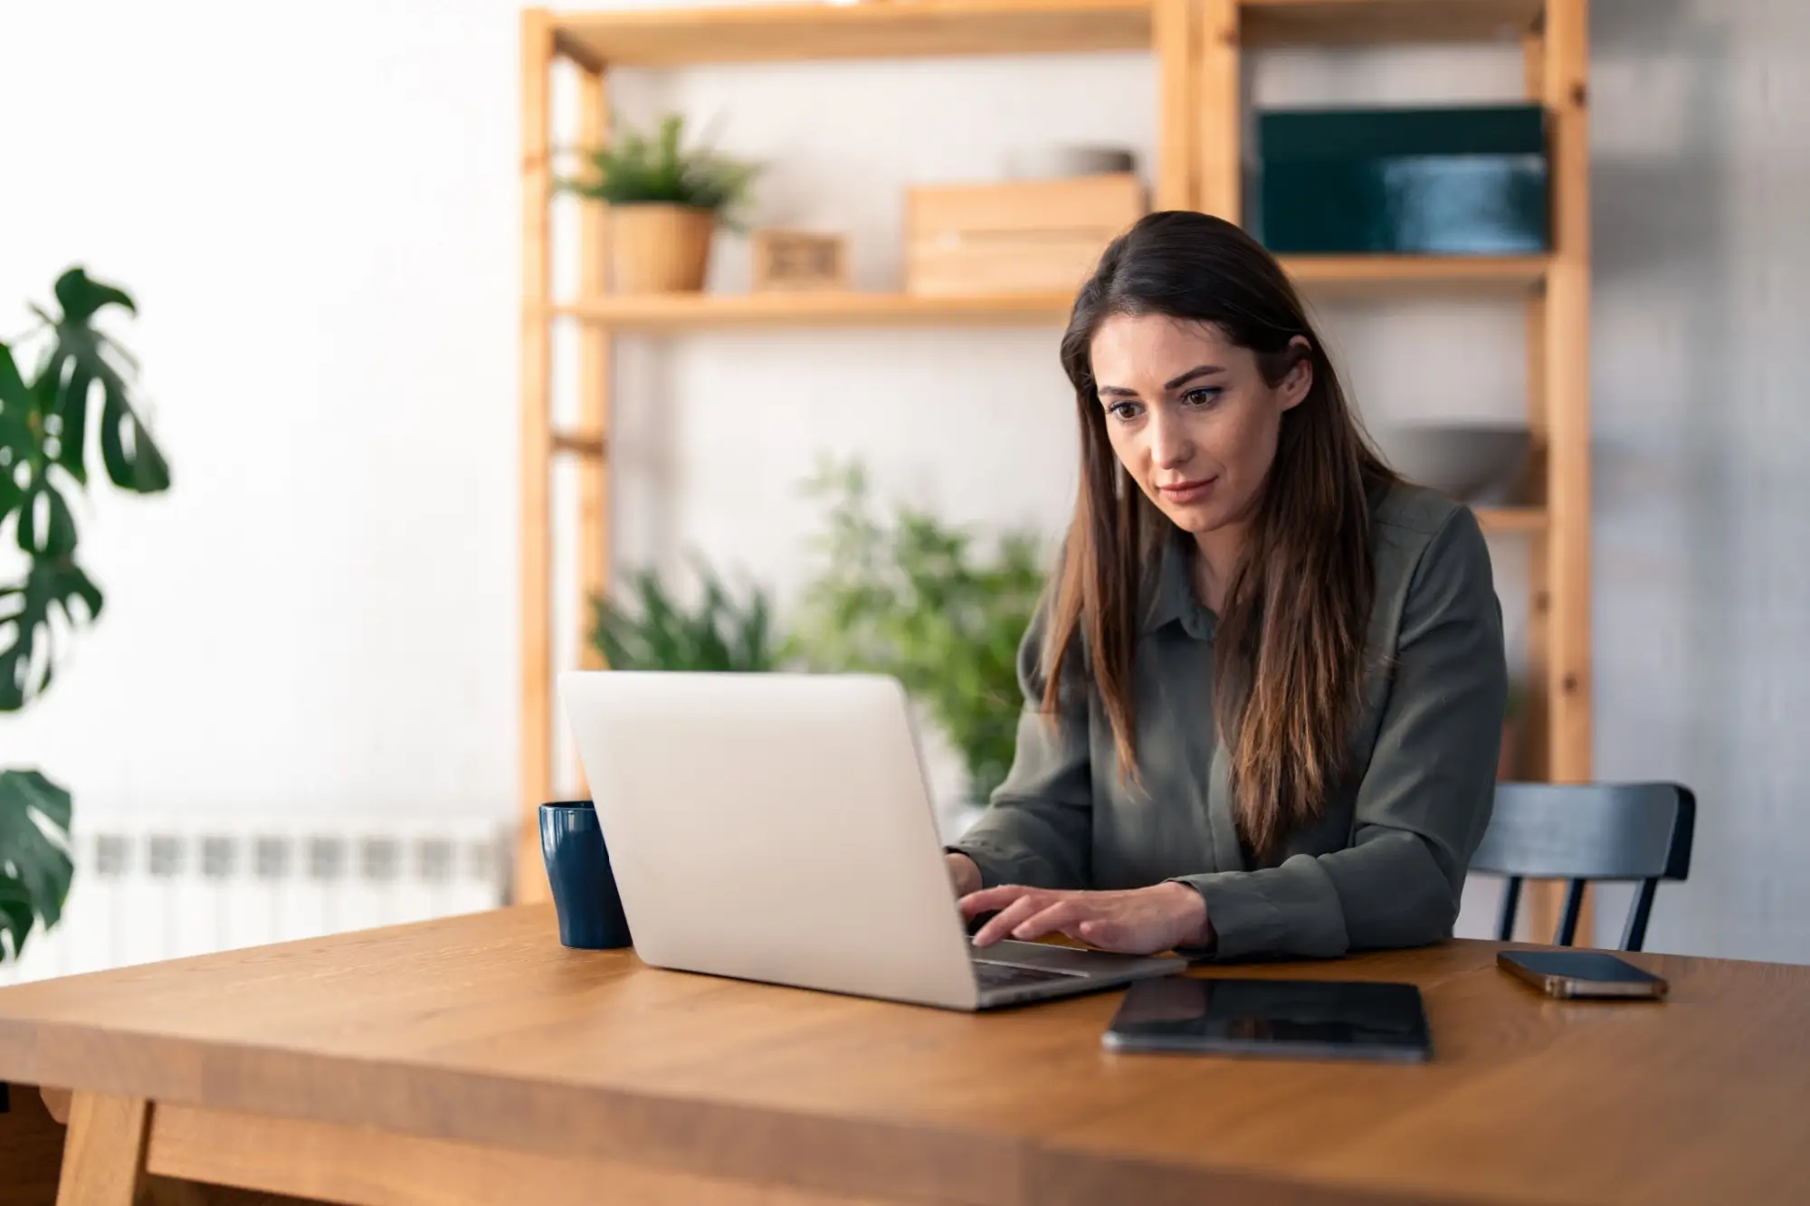
{"label": "topmost wooden board of the shelving's wide left bay", "polygon": [[592,71],[1151,45],[1149,0],[901,0],[559,13],[552,20],[554,45]]}

